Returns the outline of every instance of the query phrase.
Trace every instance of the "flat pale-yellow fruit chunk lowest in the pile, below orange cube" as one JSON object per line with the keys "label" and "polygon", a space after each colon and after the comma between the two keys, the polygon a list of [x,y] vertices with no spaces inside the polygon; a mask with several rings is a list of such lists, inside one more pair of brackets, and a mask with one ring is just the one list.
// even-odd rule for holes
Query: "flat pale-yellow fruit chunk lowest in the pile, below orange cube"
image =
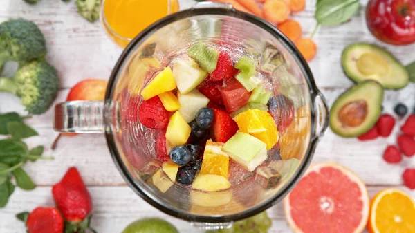
{"label": "flat pale-yellow fruit chunk lowest in the pile, below orange cube", "polygon": [[216,192],[230,188],[230,182],[223,176],[212,174],[198,174],[192,183],[192,189]]}

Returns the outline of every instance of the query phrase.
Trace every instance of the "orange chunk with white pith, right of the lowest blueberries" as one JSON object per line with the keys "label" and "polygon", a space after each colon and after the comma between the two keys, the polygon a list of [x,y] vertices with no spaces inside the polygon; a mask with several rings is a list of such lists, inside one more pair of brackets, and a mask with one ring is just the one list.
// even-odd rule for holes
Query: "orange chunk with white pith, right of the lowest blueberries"
{"label": "orange chunk with white pith, right of the lowest blueberries", "polygon": [[228,178],[229,156],[222,151],[222,146],[221,142],[212,142],[212,140],[206,142],[201,174],[213,174]]}

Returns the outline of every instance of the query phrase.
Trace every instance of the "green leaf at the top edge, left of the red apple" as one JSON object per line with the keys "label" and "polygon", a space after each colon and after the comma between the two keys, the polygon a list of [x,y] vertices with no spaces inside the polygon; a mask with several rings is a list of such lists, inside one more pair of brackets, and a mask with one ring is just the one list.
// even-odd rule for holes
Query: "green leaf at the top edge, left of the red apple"
{"label": "green leaf at the top edge, left of the red apple", "polygon": [[351,19],[359,7],[359,0],[320,0],[315,10],[315,19],[323,26],[336,26]]}

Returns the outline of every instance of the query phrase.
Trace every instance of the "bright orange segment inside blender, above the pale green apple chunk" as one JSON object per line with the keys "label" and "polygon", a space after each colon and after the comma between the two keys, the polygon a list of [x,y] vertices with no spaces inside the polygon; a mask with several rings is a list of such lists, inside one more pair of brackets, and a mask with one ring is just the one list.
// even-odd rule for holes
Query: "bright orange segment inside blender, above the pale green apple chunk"
{"label": "bright orange segment inside blender, above the pale green apple chunk", "polygon": [[274,147],[278,141],[277,125],[273,117],[267,111],[248,109],[234,117],[239,131],[249,133],[266,143],[266,149]]}

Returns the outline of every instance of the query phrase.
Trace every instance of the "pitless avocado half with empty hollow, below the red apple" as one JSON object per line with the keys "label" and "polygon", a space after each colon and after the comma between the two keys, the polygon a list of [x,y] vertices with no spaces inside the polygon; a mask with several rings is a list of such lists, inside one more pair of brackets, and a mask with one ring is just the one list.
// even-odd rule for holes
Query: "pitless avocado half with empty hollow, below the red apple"
{"label": "pitless avocado half with empty hollow, below the red apple", "polygon": [[400,89],[409,82],[409,73],[398,59],[374,44],[358,43],[344,48],[344,73],[353,82],[376,80],[385,89]]}

